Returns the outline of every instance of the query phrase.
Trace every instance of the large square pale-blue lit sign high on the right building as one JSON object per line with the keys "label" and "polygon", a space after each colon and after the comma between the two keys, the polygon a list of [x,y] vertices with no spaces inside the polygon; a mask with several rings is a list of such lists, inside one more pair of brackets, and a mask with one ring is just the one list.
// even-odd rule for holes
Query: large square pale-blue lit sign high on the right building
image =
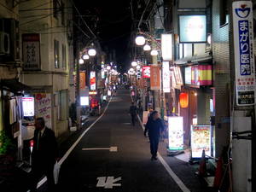
{"label": "large square pale-blue lit sign high on the right building", "polygon": [[193,44],[206,43],[207,16],[179,15],[179,41]]}

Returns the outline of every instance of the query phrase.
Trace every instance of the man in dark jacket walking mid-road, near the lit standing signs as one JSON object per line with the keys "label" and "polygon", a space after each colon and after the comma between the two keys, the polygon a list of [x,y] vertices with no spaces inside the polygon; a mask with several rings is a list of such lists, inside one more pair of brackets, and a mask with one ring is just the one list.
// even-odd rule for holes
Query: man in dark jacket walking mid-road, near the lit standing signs
{"label": "man in dark jacket walking mid-road, near the lit standing signs", "polygon": [[150,152],[152,154],[151,160],[157,160],[157,150],[160,134],[164,131],[165,126],[159,117],[159,113],[154,111],[150,114],[148,122],[145,127],[144,135],[148,131],[148,137],[150,141]]}

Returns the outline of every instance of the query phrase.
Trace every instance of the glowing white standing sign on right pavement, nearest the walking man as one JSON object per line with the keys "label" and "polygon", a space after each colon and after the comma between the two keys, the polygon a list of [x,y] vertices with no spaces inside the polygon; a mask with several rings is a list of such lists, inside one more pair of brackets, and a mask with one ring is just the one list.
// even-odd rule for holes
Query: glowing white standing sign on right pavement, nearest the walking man
{"label": "glowing white standing sign on right pavement, nearest the walking man", "polygon": [[168,117],[169,149],[183,150],[183,117]]}

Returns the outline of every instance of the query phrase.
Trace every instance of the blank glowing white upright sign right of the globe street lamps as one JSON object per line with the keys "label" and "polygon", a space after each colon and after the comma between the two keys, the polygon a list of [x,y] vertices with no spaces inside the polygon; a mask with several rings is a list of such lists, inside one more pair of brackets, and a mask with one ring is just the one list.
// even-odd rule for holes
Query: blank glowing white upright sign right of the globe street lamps
{"label": "blank glowing white upright sign right of the globe street lamps", "polygon": [[164,61],[172,61],[172,34],[161,35],[161,51]]}

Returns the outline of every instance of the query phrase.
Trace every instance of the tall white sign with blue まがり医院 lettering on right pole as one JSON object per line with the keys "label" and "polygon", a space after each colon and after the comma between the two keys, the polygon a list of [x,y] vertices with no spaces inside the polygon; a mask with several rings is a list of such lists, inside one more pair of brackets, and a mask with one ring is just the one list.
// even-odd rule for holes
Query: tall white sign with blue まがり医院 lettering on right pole
{"label": "tall white sign with blue \u307e\u304c\u308a\u533b\u9662 lettering on right pole", "polygon": [[233,2],[236,105],[255,104],[255,68],[253,55],[253,5]]}

